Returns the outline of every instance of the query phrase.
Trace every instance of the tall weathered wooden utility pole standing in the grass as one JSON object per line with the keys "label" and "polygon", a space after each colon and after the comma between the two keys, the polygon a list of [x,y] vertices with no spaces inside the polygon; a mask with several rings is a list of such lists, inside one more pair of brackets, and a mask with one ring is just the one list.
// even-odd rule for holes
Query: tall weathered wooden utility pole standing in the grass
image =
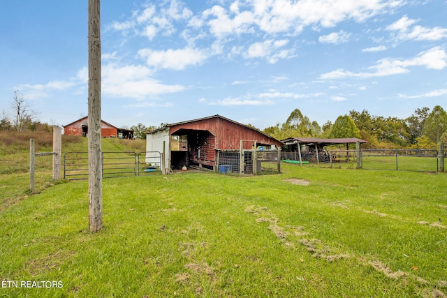
{"label": "tall weathered wooden utility pole standing in the grass", "polygon": [[100,0],[89,0],[89,230],[103,228]]}

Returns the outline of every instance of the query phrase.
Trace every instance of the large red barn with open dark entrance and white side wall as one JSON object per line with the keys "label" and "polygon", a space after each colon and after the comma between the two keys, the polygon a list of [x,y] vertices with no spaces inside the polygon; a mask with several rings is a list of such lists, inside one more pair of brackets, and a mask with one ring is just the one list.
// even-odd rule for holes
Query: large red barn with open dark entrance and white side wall
{"label": "large red barn with open dark entrance and white side wall", "polygon": [[280,149],[282,142],[220,115],[168,124],[147,133],[147,151],[166,152],[165,165],[169,168],[184,164],[214,168],[217,151],[256,147]]}

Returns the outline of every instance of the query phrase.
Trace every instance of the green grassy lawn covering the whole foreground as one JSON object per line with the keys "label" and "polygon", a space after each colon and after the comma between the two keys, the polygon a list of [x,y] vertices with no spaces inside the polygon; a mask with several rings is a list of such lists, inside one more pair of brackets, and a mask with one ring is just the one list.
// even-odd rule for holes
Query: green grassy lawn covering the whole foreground
{"label": "green grassy lawn covering the whole foreground", "polygon": [[0,297],[446,297],[445,174],[282,170],[105,179],[98,233],[87,181],[22,193],[0,280],[63,286]]}

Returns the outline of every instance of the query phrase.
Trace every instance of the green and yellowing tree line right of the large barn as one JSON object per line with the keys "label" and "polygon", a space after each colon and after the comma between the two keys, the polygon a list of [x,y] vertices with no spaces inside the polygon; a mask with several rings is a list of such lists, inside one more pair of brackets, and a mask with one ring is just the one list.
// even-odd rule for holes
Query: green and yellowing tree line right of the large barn
{"label": "green and yellowing tree line right of the large barn", "polygon": [[447,112],[439,105],[416,109],[406,119],[370,114],[367,110],[349,111],[335,123],[320,126],[316,121],[293,110],[283,124],[263,130],[277,140],[288,137],[357,137],[367,141],[365,149],[437,149],[447,143]]}

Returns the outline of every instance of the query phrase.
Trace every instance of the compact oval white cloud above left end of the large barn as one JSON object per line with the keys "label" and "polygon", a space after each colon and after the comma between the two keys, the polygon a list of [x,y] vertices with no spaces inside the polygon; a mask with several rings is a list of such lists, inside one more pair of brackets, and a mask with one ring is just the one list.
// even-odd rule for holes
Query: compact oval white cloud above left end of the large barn
{"label": "compact oval white cloud above left end of the large barn", "polygon": [[138,54],[147,59],[149,66],[173,70],[183,70],[187,66],[202,64],[207,59],[205,52],[192,47],[166,51],[142,49],[138,51]]}

